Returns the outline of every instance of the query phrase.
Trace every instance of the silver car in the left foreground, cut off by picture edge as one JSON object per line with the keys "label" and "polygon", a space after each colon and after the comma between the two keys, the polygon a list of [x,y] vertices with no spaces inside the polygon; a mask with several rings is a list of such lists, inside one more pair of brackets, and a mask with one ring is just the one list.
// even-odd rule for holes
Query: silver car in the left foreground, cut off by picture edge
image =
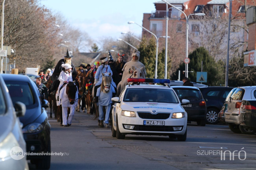
{"label": "silver car in the left foreground, cut off by picture edge", "polygon": [[[26,106],[21,102],[13,103],[8,89],[0,75],[0,169],[28,170],[26,156],[15,160],[11,157],[11,150],[14,146],[20,147],[26,152],[26,142],[22,134],[22,123],[17,117],[24,116]],[[15,150],[14,150],[15,151]]]}

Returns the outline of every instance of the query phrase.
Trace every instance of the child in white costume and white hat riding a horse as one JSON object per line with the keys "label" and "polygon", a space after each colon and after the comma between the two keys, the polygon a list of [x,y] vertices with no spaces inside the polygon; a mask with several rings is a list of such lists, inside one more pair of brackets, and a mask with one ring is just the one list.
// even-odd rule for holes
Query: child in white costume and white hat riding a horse
{"label": "child in white costume and white hat riding a horse", "polygon": [[[60,88],[64,83],[72,82],[72,66],[70,64],[61,64],[61,67],[65,68],[65,71],[61,71],[58,80],[60,81],[58,91],[56,92],[56,100],[59,101],[59,92]],[[57,106],[60,105],[60,102],[57,102]]]}

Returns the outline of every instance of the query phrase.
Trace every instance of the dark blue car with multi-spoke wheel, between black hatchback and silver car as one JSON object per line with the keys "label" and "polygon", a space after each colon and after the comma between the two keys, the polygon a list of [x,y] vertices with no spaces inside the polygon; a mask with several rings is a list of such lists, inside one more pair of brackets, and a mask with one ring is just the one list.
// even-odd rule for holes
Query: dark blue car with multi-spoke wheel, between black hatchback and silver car
{"label": "dark blue car with multi-spoke wheel, between black hatchback and silver car", "polygon": [[218,113],[221,111],[223,102],[233,87],[199,87],[204,100],[206,101],[208,124],[218,123]]}

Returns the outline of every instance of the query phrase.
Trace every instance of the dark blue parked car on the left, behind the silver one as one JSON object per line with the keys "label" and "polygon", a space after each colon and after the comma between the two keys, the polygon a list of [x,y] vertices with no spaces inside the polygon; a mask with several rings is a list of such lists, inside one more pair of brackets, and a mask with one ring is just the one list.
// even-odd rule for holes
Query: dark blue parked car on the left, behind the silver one
{"label": "dark blue parked car on the left, behind the silver one", "polygon": [[[41,101],[41,96],[35,83],[24,75],[2,74],[2,78],[9,90],[13,104],[17,101],[26,105],[24,117],[20,117],[23,123],[23,136],[27,144],[27,152],[50,153],[51,125],[44,107],[48,107],[46,100]],[[27,159],[36,165],[37,169],[49,169],[51,155],[27,155]]]}

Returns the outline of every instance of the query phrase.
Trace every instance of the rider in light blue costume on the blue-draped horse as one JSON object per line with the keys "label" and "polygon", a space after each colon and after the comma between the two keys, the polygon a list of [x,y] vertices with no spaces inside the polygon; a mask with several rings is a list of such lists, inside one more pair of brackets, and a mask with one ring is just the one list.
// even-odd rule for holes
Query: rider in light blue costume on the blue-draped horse
{"label": "rider in light blue costume on the blue-draped horse", "polygon": [[[94,99],[93,99],[93,103],[97,103],[98,102],[98,97],[96,97],[96,93],[97,93],[97,89],[100,87],[101,82],[102,82],[102,73],[111,73],[111,76],[113,75],[113,72],[110,69],[110,66],[108,65],[109,61],[107,57],[102,57],[100,58],[101,60],[101,65],[98,67],[96,73],[95,73],[95,80],[94,80]],[[112,79],[112,78],[111,78]],[[111,88],[112,91],[115,91],[114,87],[116,88],[115,83],[113,82],[113,79],[111,81]]]}

